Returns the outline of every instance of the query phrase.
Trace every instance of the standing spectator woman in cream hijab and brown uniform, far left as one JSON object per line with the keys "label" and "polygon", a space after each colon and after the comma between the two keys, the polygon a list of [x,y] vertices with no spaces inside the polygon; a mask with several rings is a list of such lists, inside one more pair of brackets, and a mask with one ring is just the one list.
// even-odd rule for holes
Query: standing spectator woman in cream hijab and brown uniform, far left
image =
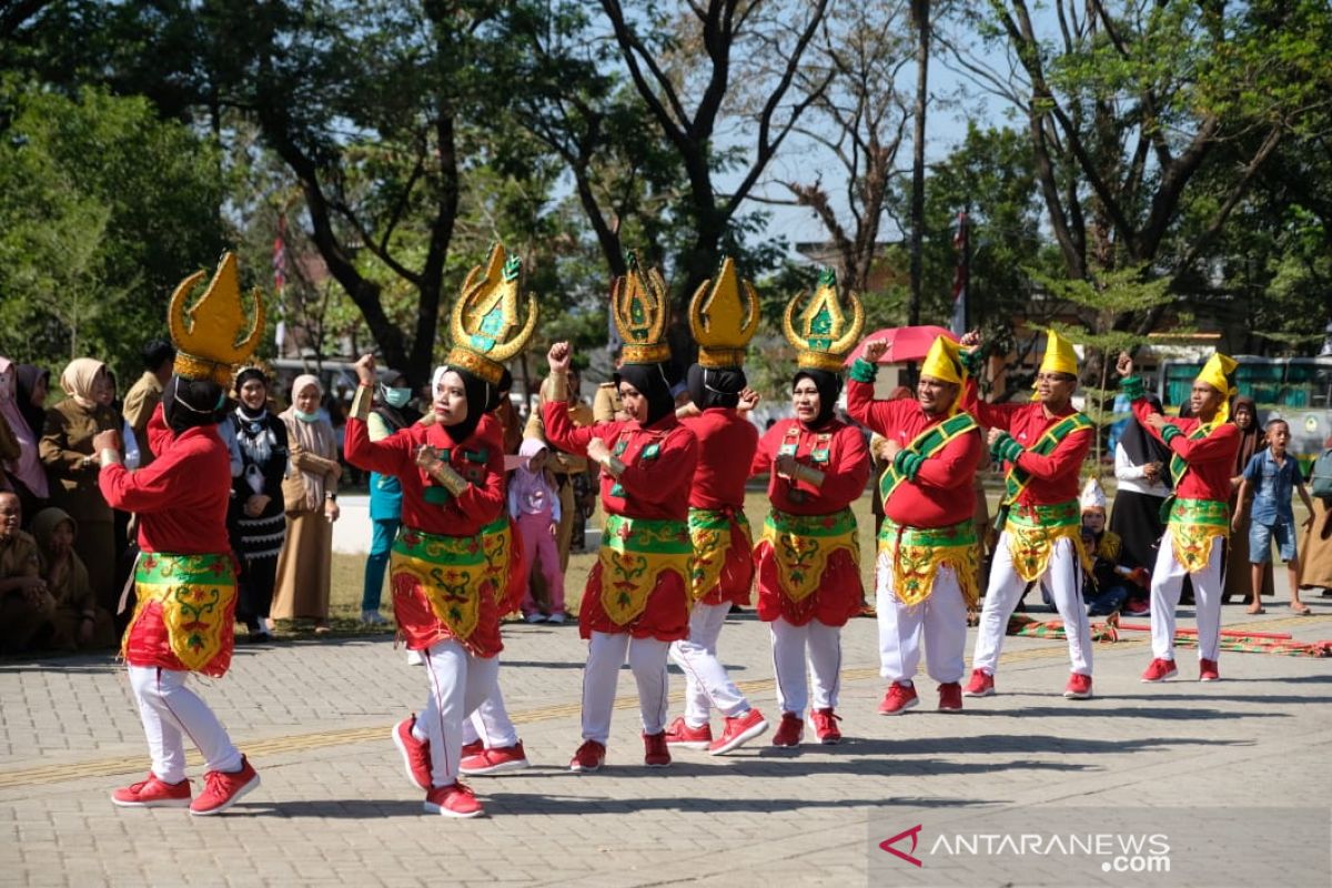
{"label": "standing spectator woman in cream hijab and brown uniform, far left", "polygon": [[119,431],[120,414],[108,403],[111,377],[93,358],[76,358],[60,374],[65,399],[47,411],[39,453],[47,467],[51,505],[79,525],[75,551],[88,567],[97,606],[116,612],[116,525],[111,506],[97,489],[99,462],[92,439]]}

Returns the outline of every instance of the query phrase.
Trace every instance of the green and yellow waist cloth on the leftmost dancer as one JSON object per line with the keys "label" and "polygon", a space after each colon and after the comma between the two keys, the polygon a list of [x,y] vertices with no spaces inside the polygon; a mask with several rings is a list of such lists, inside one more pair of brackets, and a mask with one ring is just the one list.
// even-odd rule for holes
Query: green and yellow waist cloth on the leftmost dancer
{"label": "green and yellow waist cloth on the leftmost dancer", "polygon": [[[224,654],[222,630],[236,600],[236,572],[229,555],[144,553],[135,566],[139,603],[135,619],[149,602],[161,606],[172,654],[190,672],[201,672]],[[125,655],[121,642],[121,656]]]}

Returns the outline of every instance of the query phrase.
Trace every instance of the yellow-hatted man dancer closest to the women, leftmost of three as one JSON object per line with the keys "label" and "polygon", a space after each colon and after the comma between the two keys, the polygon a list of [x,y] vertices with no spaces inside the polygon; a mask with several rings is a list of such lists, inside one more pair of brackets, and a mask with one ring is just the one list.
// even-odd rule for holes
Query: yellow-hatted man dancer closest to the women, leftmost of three
{"label": "yellow-hatted man dancer closest to the women, leftmost of three", "polygon": [[920,369],[914,399],[876,401],[875,339],[851,366],[847,414],[887,439],[892,462],[879,481],[883,525],[875,567],[879,674],[888,690],[882,715],[916,706],[912,682],[924,642],[926,668],[939,683],[939,710],[962,708],[967,607],[978,592],[975,501],[980,429],[958,409],[967,377],[958,343],[939,337]]}

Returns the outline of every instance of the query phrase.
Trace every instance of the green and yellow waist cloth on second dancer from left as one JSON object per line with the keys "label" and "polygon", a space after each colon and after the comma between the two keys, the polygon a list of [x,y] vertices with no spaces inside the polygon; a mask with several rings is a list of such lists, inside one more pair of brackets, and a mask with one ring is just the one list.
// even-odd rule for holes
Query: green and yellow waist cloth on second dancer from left
{"label": "green and yellow waist cloth on second dancer from left", "polygon": [[492,579],[486,546],[476,537],[428,534],[404,525],[389,554],[390,587],[412,576],[436,618],[458,640],[472,638],[481,622],[481,588]]}

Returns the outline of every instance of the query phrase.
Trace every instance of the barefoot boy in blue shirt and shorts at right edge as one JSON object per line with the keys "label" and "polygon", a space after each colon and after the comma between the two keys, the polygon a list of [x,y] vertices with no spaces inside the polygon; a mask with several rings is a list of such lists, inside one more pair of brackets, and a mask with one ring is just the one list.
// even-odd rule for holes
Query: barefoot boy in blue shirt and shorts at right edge
{"label": "barefoot boy in blue shirt and shorts at right edge", "polygon": [[[1285,568],[1291,580],[1291,610],[1296,614],[1308,614],[1308,604],[1300,600],[1300,562],[1295,550],[1295,511],[1291,509],[1291,490],[1300,491],[1304,507],[1313,514],[1313,502],[1304,489],[1304,478],[1300,477],[1300,467],[1295,458],[1285,453],[1291,443],[1291,427],[1284,419],[1272,419],[1267,423],[1267,442],[1264,450],[1259,450],[1244,466],[1240,475],[1240,490],[1236,502],[1240,506],[1232,523],[1232,530],[1243,527],[1241,513],[1244,498],[1249,487],[1253,489],[1253,503],[1249,506],[1249,567],[1252,575],[1252,603],[1249,614],[1261,614],[1263,603],[1259,598],[1263,588],[1263,566],[1272,558],[1272,543],[1276,543],[1277,554],[1285,562]],[[1308,523],[1308,522],[1305,522]]]}

